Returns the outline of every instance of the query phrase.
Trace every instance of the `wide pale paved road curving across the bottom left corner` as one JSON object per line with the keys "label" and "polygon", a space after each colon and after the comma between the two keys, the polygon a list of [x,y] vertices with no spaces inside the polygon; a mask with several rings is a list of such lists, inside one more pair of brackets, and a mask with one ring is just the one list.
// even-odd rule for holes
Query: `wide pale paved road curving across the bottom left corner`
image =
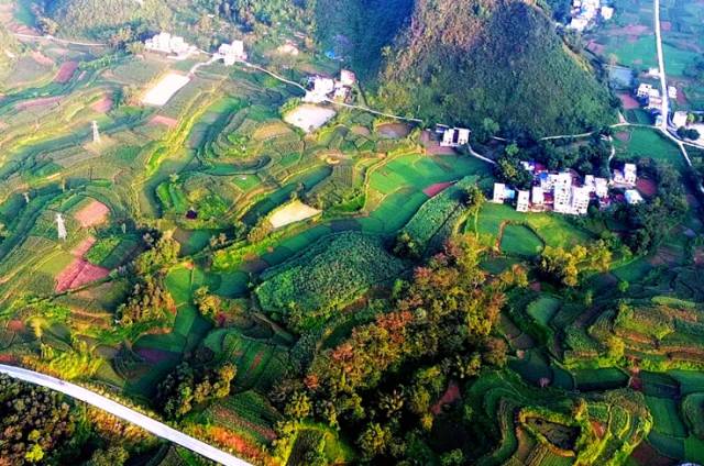
{"label": "wide pale paved road curving across the bottom left corner", "polygon": [[158,437],[166,439],[177,445],[196,452],[206,458],[212,459],[213,462],[218,462],[227,466],[251,466],[250,463],[235,458],[221,450],[194,439],[190,435],[178,432],[166,424],[155,421],[147,415],[136,412],[101,395],[95,393],[84,387],[79,387],[44,374],[35,373],[33,370],[23,369],[21,367],[6,366],[4,364],[0,364],[0,373],[7,374],[19,380],[24,380],[30,384],[41,385],[42,387],[61,391],[72,398],[85,401],[88,404],[92,404],[94,407],[107,411],[110,414],[136,424]]}

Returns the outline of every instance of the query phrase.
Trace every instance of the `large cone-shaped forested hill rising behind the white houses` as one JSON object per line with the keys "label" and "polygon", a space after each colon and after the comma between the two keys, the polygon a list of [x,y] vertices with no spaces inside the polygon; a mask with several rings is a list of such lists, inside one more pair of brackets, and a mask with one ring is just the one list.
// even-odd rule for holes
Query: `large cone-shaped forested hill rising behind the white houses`
{"label": "large cone-shaped forested hill rising behind the white houses", "polygon": [[576,133],[614,120],[609,93],[544,12],[522,0],[417,0],[381,97],[426,121],[509,135]]}

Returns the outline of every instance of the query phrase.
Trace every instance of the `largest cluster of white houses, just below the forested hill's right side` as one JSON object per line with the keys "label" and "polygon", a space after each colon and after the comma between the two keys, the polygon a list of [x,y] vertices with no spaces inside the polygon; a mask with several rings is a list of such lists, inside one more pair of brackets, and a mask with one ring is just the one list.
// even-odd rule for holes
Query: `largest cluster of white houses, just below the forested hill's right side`
{"label": "largest cluster of white houses, just below the forested hill's right side", "polygon": [[609,206],[609,189],[622,188],[624,200],[629,204],[644,201],[634,189],[638,180],[635,164],[624,164],[614,170],[612,180],[586,175],[584,179],[572,171],[549,173],[541,164],[522,162],[524,168],[534,176],[530,190],[513,189],[502,182],[494,184],[492,202],[515,201],[518,212],[553,211],[570,215],[585,215],[590,202],[598,200],[600,206]]}

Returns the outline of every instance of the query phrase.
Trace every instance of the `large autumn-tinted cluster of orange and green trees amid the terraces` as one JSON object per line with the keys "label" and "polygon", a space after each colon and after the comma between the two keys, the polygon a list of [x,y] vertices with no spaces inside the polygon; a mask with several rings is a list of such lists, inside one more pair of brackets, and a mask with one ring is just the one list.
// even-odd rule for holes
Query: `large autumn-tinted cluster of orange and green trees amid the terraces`
{"label": "large autumn-tinted cluster of orange and green trees amid the terraces", "polygon": [[344,424],[367,461],[413,457],[410,443],[425,442],[448,385],[506,362],[506,344],[492,330],[503,290],[526,277],[519,268],[488,277],[479,267],[483,254],[462,236],[418,267],[392,310],[354,328],[316,356],[300,386],[290,385],[288,418]]}

